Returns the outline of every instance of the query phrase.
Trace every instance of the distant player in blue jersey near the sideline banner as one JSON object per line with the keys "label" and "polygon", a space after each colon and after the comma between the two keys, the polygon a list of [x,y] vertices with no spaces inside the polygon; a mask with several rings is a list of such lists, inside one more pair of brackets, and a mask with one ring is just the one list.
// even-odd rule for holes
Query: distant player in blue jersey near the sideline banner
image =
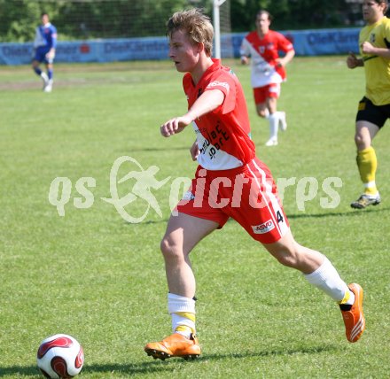
{"label": "distant player in blue jersey near the sideline banner", "polygon": [[[35,29],[33,69],[43,80],[43,90],[51,92],[53,85],[53,61],[56,55],[57,29],[51,24],[49,15],[42,13],[42,25]],[[47,73],[39,65],[44,63]]]}

